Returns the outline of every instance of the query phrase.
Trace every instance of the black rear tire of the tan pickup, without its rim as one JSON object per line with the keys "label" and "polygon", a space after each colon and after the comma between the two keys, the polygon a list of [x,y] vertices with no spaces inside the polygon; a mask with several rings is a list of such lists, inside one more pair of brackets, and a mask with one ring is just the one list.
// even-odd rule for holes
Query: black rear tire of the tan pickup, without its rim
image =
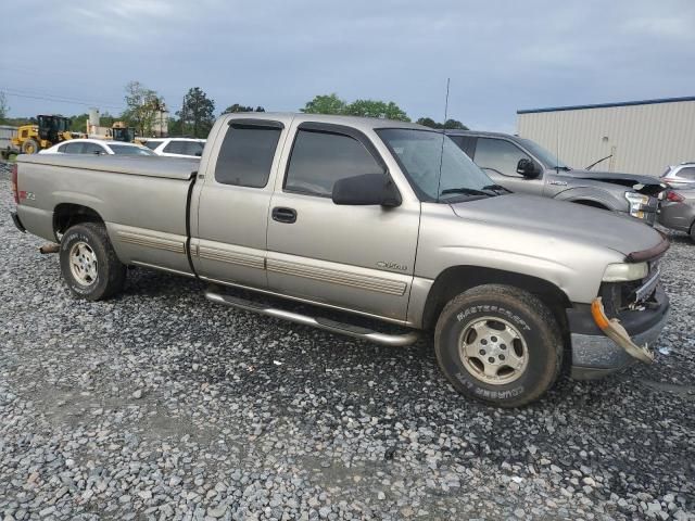
{"label": "black rear tire of the tan pickup, without its rim", "polygon": [[[71,269],[71,251],[77,243],[87,244],[97,257],[97,277],[80,283]],[[61,238],[61,272],[71,292],[88,301],[102,301],[118,293],[126,281],[126,266],[118,260],[106,228],[98,223],[75,225]]]}

